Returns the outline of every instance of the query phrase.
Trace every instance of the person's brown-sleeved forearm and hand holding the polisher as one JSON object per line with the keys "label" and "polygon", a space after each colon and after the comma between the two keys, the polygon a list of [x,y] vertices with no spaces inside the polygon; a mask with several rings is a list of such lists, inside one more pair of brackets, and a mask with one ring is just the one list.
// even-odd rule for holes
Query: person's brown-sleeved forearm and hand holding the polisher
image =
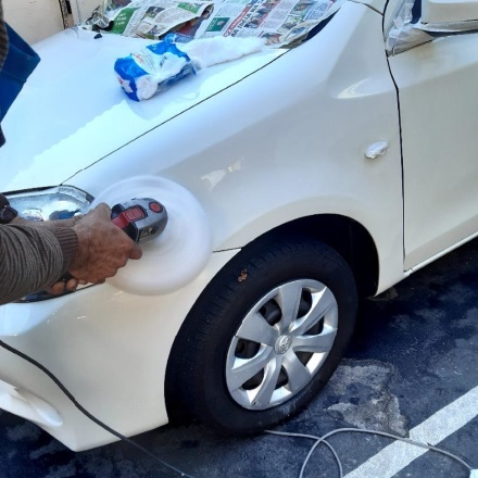
{"label": "person's brown-sleeved forearm and hand holding the polisher", "polygon": [[58,279],[65,272],[73,276],[68,290],[78,282],[103,282],[141,254],[138,244],[112,224],[104,203],[78,221],[14,219],[0,226],[0,304],[45,289],[63,292]]}

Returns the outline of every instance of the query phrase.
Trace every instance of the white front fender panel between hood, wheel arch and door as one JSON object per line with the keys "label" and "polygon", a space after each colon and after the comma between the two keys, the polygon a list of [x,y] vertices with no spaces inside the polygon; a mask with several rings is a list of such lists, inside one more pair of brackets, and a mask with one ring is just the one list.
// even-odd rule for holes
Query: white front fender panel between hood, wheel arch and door
{"label": "white front fender panel between hood, wheel arch and door", "polygon": [[[397,101],[381,15],[348,2],[300,48],[70,184],[97,194],[105,177],[123,180],[137,175],[139,165],[142,174],[177,181],[204,207],[216,251],[242,248],[299,217],[350,217],[374,238],[383,290],[403,278]],[[376,141],[386,141],[387,152],[366,158]]]}

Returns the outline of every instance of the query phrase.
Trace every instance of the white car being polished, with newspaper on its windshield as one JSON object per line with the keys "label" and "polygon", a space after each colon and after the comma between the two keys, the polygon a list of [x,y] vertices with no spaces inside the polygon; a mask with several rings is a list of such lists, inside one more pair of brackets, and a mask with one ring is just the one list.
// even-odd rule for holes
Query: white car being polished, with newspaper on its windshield
{"label": "white car being polished, with newspaper on its windshield", "polygon": [[252,433],[305,406],[358,297],[477,236],[478,0],[417,2],[345,1],[295,48],[142,102],[112,65],[143,40],[38,43],[0,190],[34,218],[142,194],[169,224],[118,278],[0,307],[0,339],[45,367],[0,348],[0,407],[85,450],[117,437],[72,395],[125,436],[183,412]]}

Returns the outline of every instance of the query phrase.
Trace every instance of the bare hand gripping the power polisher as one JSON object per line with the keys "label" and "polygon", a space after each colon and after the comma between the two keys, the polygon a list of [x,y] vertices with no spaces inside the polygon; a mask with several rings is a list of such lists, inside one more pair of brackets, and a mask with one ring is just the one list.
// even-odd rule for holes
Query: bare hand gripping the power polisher
{"label": "bare hand gripping the power polisher", "polygon": [[[104,282],[129,259],[142,255],[138,244],[111,222],[111,210],[104,203],[79,219],[73,230],[78,236],[78,250],[68,272],[79,284]],[[67,290],[78,285],[70,280],[66,282]],[[61,286],[56,282],[53,287]]]}

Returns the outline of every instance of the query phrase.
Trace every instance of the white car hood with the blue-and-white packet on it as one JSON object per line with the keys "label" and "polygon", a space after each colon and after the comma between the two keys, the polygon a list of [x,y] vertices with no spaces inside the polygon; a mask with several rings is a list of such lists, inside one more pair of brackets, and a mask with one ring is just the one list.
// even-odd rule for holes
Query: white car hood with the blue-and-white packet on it
{"label": "white car hood with the blue-and-white packet on it", "polygon": [[113,66],[117,58],[150,43],[78,28],[37,43],[41,62],[2,123],[0,191],[67,183],[285,53],[265,50],[211,66],[138,103],[123,92]]}

